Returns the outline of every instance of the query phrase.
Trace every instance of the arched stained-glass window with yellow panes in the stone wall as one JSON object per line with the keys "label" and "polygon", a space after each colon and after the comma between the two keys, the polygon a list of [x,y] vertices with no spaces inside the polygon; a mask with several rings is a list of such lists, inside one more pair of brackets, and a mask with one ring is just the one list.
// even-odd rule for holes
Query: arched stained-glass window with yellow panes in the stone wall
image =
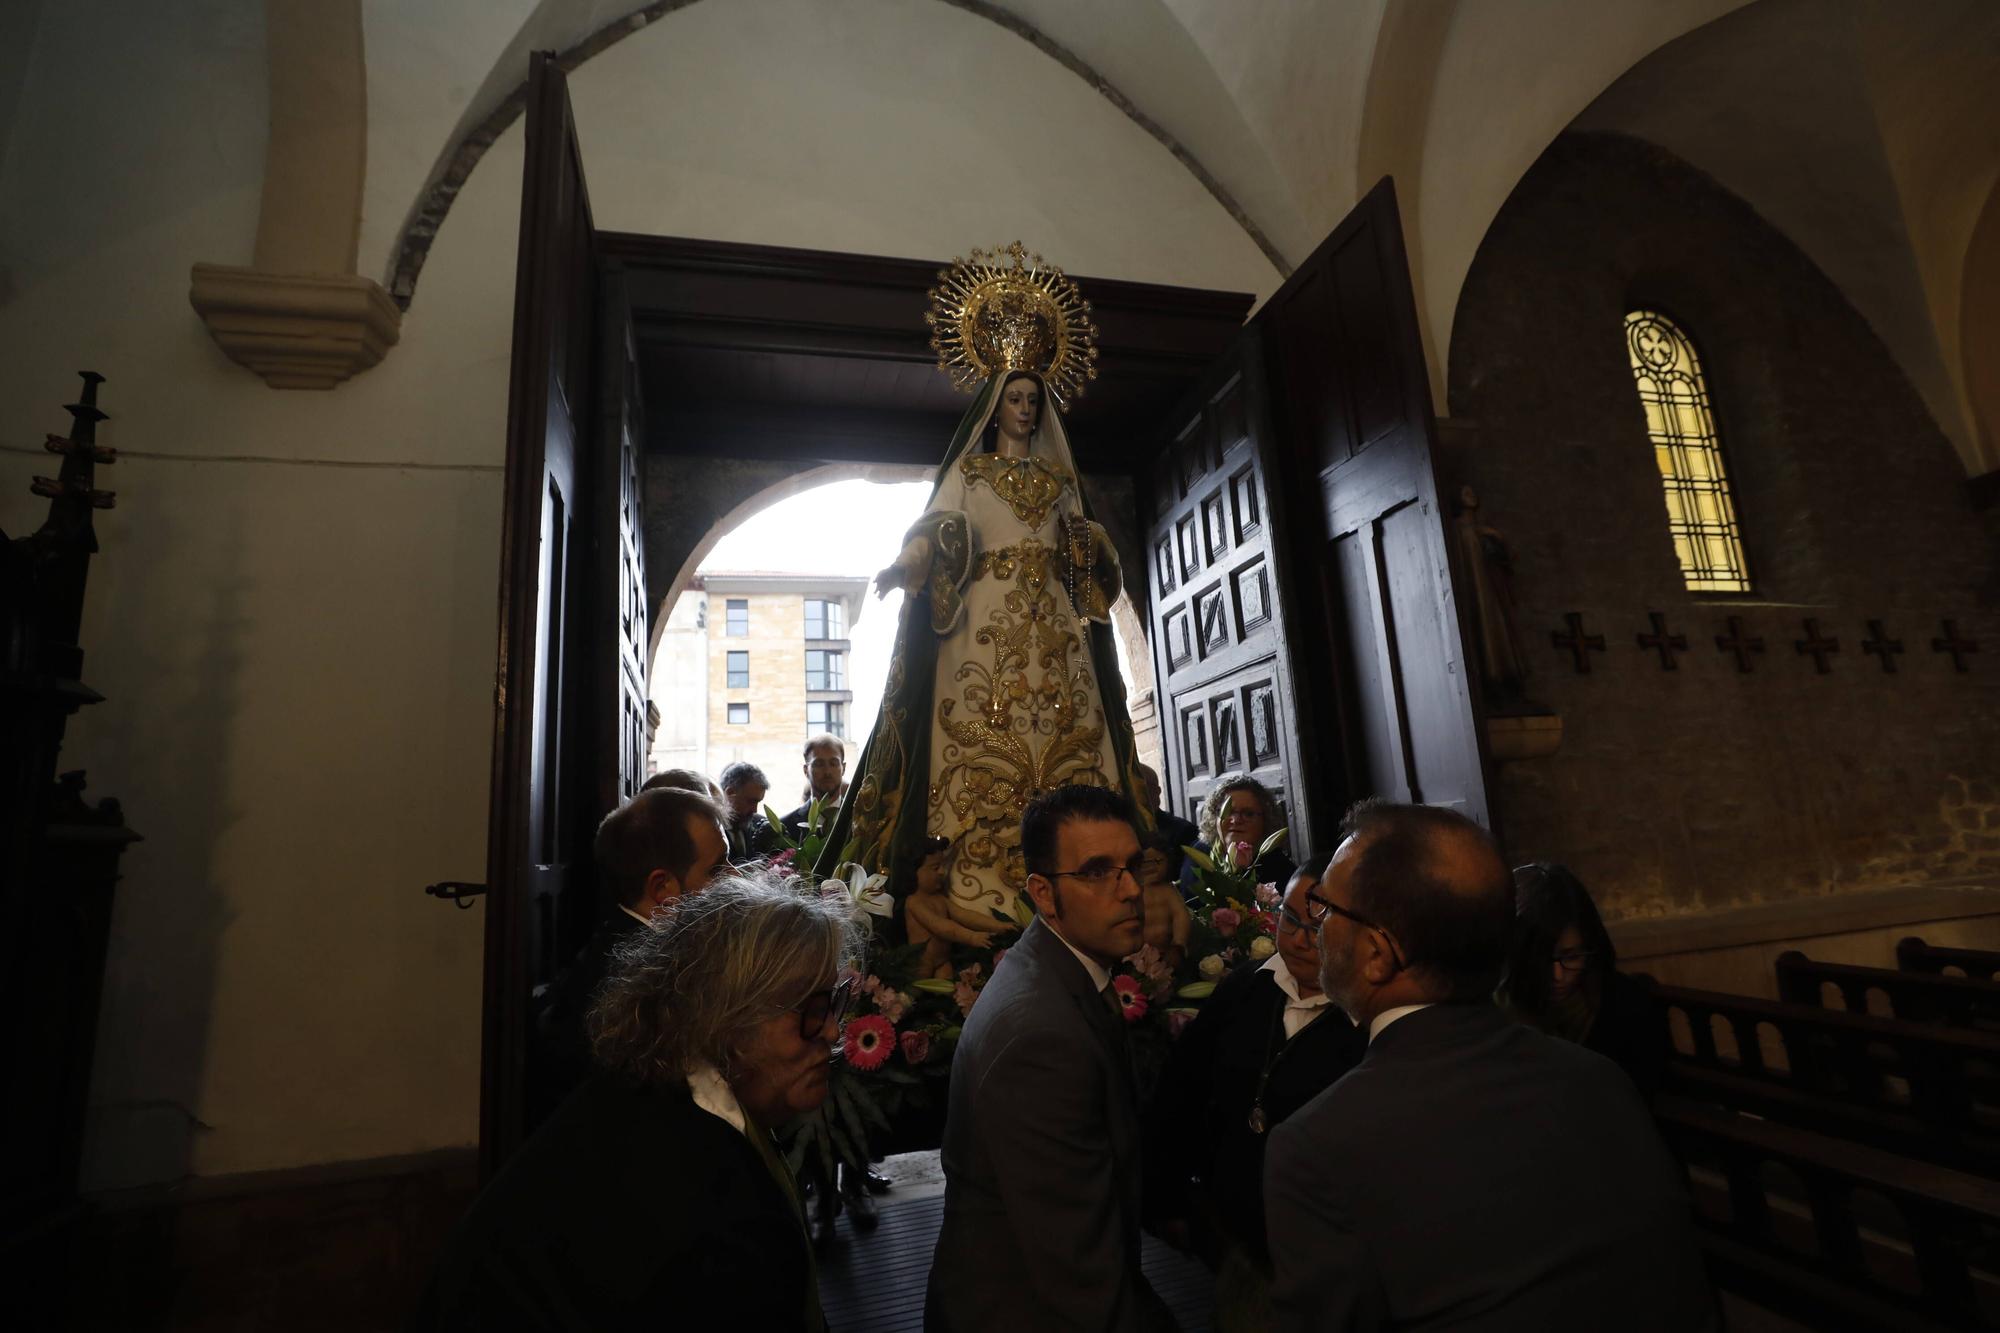
{"label": "arched stained-glass window with yellow panes in the stone wall", "polygon": [[1666,528],[1690,592],[1748,592],[1750,564],[1694,342],[1658,310],[1626,314],[1626,350],[1666,488]]}

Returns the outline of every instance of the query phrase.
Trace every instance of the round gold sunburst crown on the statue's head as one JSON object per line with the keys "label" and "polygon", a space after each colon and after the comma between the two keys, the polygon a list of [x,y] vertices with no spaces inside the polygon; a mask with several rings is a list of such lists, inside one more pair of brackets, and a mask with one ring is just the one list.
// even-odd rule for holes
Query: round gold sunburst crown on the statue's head
{"label": "round gold sunburst crown on the statue's head", "polygon": [[1098,378],[1090,302],[1060,268],[1028,254],[1018,240],[940,268],[924,322],[938,368],[964,392],[1004,370],[1034,370],[1056,406],[1068,408]]}

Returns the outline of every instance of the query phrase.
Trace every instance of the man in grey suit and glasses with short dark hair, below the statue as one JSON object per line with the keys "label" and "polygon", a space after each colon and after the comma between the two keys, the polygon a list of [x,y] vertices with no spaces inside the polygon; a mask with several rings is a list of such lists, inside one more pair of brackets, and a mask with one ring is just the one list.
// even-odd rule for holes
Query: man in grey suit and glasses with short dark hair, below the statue
{"label": "man in grey suit and glasses with short dark hair, below the statue", "polygon": [[1110,969],[1144,943],[1132,805],[1060,787],[1020,823],[1036,921],[952,1055],[924,1327],[1172,1329],[1138,1271],[1140,1123]]}

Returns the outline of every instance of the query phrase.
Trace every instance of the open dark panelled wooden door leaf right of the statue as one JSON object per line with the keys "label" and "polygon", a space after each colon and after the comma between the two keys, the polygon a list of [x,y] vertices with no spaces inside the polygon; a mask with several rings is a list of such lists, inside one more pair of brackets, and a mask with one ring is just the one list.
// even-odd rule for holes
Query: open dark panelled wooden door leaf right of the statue
{"label": "open dark panelled wooden door leaf right of the statue", "polygon": [[1148,578],[1170,805],[1270,787],[1294,855],[1362,797],[1490,825],[1430,384],[1382,180],[1174,410]]}

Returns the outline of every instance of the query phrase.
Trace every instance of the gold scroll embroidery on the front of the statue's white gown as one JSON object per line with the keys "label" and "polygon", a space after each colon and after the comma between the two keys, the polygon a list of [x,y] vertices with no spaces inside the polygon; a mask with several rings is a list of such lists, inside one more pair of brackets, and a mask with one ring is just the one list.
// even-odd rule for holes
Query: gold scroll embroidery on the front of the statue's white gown
{"label": "gold scroll embroidery on the front of the statue's white gown", "polygon": [[[1076,620],[1050,580],[1056,552],[1036,538],[982,552],[974,576],[1012,582],[972,640],[988,660],[966,658],[940,699],[942,769],[930,785],[932,827],[964,829],[958,883],[998,869],[1014,893],[1028,883],[1020,815],[1036,795],[1072,783],[1112,787],[1098,755],[1104,727],[1090,725],[1096,683]],[[992,889],[984,895],[1004,907]]]}

